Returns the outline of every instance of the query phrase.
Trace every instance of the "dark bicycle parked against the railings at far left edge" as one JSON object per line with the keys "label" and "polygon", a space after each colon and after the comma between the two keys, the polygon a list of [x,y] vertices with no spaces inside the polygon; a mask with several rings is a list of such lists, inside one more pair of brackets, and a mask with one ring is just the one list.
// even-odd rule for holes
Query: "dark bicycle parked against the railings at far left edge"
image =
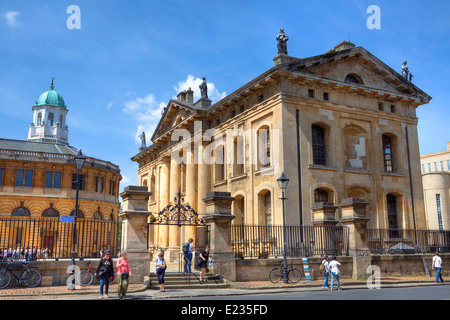
{"label": "dark bicycle parked against the railings at far left edge", "polygon": [[[27,287],[37,287],[42,280],[38,267],[28,266],[28,262],[4,262],[0,264],[0,289],[10,285],[12,277],[16,278],[20,284],[24,283]],[[22,274],[16,275],[13,270],[24,270]]]}

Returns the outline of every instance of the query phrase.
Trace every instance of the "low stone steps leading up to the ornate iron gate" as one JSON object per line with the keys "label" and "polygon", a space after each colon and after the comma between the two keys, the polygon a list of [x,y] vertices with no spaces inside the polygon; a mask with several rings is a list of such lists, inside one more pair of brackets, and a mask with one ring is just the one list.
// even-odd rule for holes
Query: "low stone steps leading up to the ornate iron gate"
{"label": "low stone steps leading up to the ornate iron gate", "polygon": [[[207,282],[200,282],[200,273],[193,272],[184,274],[179,272],[166,271],[164,275],[164,286],[168,289],[224,289],[230,285],[222,277],[213,274],[206,274]],[[159,290],[158,279],[154,272],[150,273],[149,289]]]}

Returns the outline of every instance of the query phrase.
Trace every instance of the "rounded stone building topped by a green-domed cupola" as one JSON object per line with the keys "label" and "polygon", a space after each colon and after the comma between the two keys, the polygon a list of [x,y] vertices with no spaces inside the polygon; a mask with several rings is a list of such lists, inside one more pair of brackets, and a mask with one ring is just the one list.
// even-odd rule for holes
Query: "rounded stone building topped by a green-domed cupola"
{"label": "rounded stone building topped by a green-domed cupola", "polygon": [[[0,139],[0,247],[48,246],[55,254],[67,255],[71,231],[58,223],[58,217],[75,212],[77,170],[73,158],[79,150],[69,145],[68,109],[53,82],[32,110],[26,141]],[[79,173],[77,214],[86,223],[77,227],[82,228],[79,237],[84,237],[79,243],[98,254],[101,246],[115,248],[117,244],[122,177],[117,165],[86,157]],[[64,253],[59,251],[62,246]],[[84,251],[85,256],[93,253]]]}

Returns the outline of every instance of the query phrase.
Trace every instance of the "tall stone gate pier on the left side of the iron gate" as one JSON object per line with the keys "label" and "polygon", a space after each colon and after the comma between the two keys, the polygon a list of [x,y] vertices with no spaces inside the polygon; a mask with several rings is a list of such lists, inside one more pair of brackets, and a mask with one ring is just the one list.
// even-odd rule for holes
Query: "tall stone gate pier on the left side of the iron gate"
{"label": "tall stone gate pier on the left side of the iron gate", "polygon": [[121,250],[128,252],[131,283],[143,283],[150,274],[150,256],[147,249],[148,199],[151,192],[147,187],[128,186],[120,194],[122,197]]}

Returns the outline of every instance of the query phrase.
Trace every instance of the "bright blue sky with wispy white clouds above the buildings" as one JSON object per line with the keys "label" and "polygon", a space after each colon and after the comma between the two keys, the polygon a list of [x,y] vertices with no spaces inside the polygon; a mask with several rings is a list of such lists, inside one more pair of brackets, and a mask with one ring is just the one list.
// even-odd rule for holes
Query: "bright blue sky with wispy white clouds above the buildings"
{"label": "bright blue sky with wispy white clouds above the buildings", "polygon": [[[430,5],[429,3],[433,3]],[[81,29],[70,30],[77,5]],[[370,30],[370,5],[381,29]],[[288,53],[309,57],[350,40],[433,97],[418,109],[421,154],[450,141],[450,1],[0,0],[0,137],[27,138],[31,107],[48,90],[68,105],[69,142],[120,166],[137,184],[138,132],[149,138],[161,108],[206,77],[218,101],[273,66],[283,27]]]}

